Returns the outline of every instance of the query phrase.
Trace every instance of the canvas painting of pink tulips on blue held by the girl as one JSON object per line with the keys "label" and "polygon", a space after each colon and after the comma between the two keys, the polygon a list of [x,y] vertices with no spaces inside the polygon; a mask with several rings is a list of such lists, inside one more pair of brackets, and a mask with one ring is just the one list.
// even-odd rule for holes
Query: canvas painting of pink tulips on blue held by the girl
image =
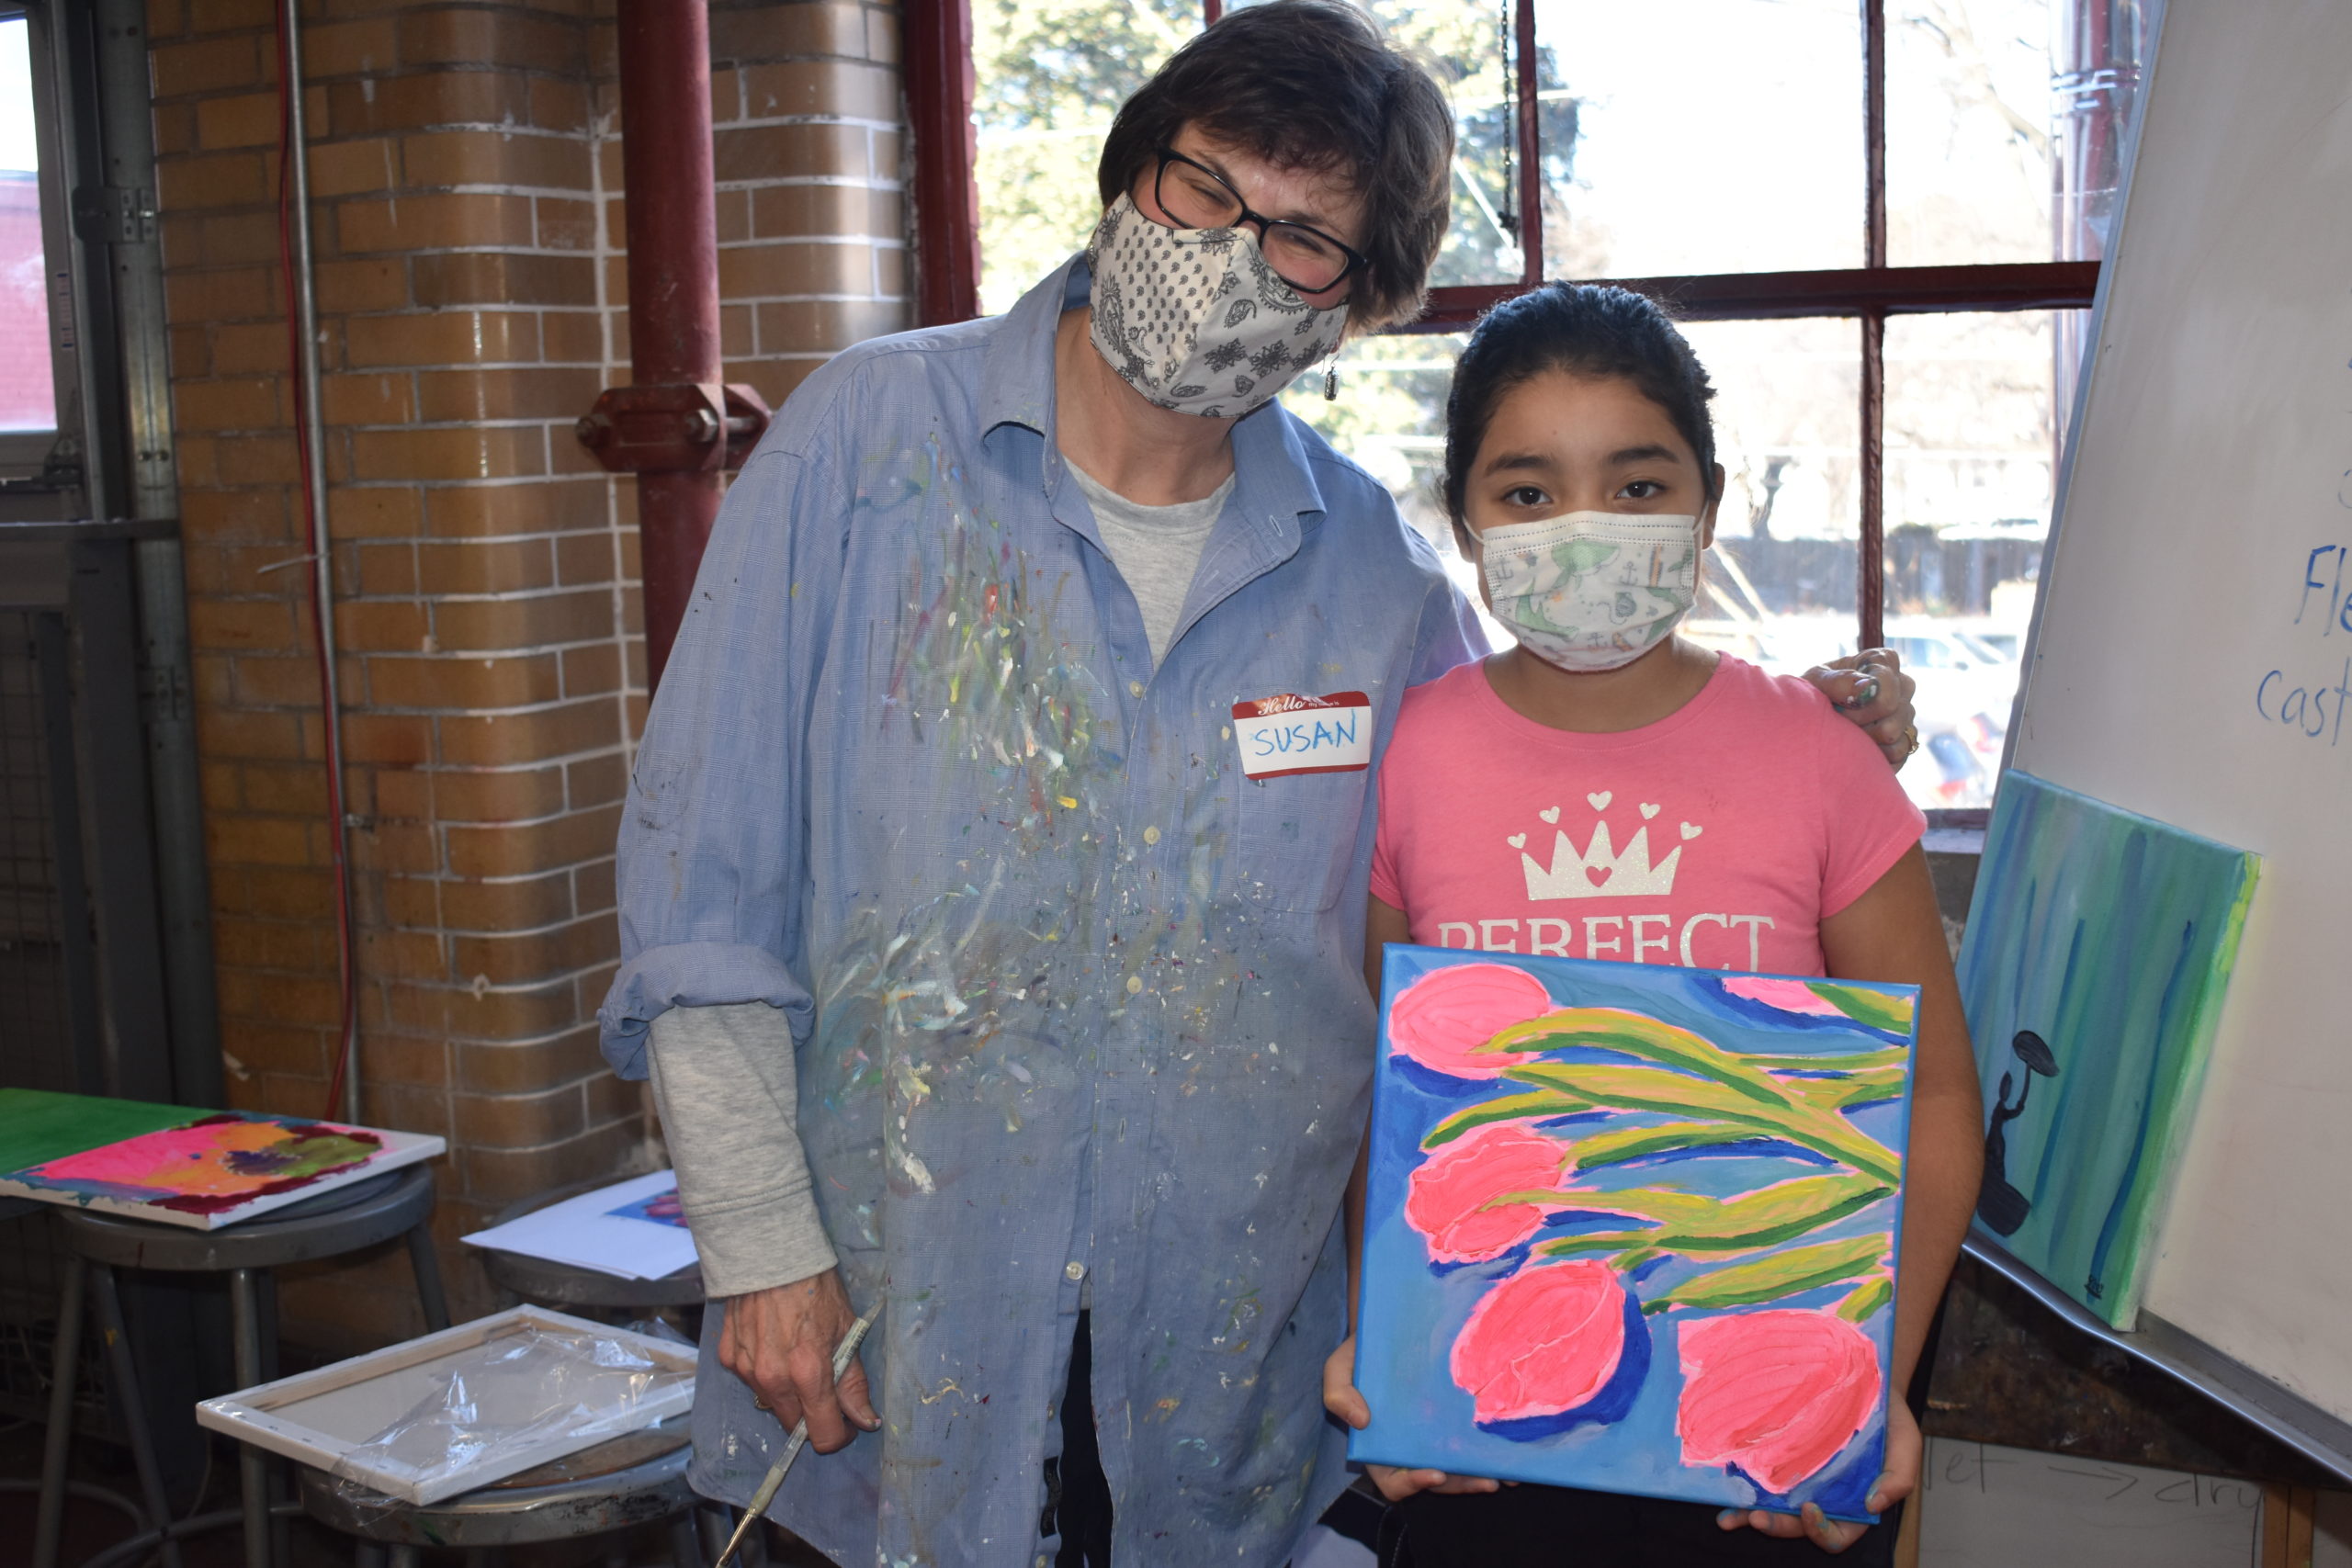
{"label": "canvas painting of pink tulips on blue held by the girl", "polygon": [[1917,990],[1388,947],[1378,1465],[1870,1519]]}

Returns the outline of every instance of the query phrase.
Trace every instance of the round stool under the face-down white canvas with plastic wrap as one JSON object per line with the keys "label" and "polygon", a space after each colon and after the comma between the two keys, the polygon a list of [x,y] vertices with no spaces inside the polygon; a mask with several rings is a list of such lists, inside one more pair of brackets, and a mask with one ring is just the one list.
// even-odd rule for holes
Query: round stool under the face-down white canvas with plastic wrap
{"label": "round stool under the face-down white canvas with plastic wrap", "polygon": [[355,1500],[322,1469],[296,1467],[301,1509],[360,1540],[358,1561],[416,1568],[423,1547],[524,1547],[670,1521],[673,1568],[701,1568],[696,1509],[687,1488],[691,1413],[440,1502]]}

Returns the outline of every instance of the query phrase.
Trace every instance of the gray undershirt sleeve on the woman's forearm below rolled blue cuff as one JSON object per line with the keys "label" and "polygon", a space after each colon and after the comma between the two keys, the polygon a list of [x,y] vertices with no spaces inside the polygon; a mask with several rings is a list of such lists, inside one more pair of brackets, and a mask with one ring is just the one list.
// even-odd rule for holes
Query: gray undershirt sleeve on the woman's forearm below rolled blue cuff
{"label": "gray undershirt sleeve on the woman's forearm below rolled blue cuff", "polygon": [[654,1105],[708,1295],[788,1286],[835,1265],[795,1131],[793,1027],[764,1001],[654,1018]]}

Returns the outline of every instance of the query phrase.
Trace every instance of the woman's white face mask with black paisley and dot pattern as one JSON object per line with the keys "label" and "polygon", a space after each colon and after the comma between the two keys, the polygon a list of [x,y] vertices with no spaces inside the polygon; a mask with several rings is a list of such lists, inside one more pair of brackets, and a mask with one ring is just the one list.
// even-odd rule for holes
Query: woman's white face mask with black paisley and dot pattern
{"label": "woman's white face mask with black paisley and dot pattern", "polygon": [[1317,310],[1247,228],[1164,228],[1129,197],[1087,247],[1094,348],[1162,409],[1237,418],[1338,348],[1348,306]]}

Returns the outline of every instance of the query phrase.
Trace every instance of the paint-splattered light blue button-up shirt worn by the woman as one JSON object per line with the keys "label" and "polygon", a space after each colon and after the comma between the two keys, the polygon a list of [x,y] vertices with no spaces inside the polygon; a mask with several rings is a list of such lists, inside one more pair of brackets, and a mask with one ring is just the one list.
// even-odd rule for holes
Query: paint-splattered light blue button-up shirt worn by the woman
{"label": "paint-splattered light blue button-up shirt worn by the woman", "polygon": [[[884,1429],[774,1516],[842,1563],[1030,1568],[1091,1286],[1120,1561],[1282,1563],[1338,1493],[1322,1361],[1369,1105],[1371,780],[1479,632],[1390,496],[1287,409],[1176,637],[1054,444],[1073,261],[1009,315],[793,393],[703,555],[621,827],[604,1051],[670,1006],[793,1025],[800,1138]],[[1362,691],[1371,766],[1251,780],[1232,705]],[[694,1481],[776,1420],[703,1333]]]}

